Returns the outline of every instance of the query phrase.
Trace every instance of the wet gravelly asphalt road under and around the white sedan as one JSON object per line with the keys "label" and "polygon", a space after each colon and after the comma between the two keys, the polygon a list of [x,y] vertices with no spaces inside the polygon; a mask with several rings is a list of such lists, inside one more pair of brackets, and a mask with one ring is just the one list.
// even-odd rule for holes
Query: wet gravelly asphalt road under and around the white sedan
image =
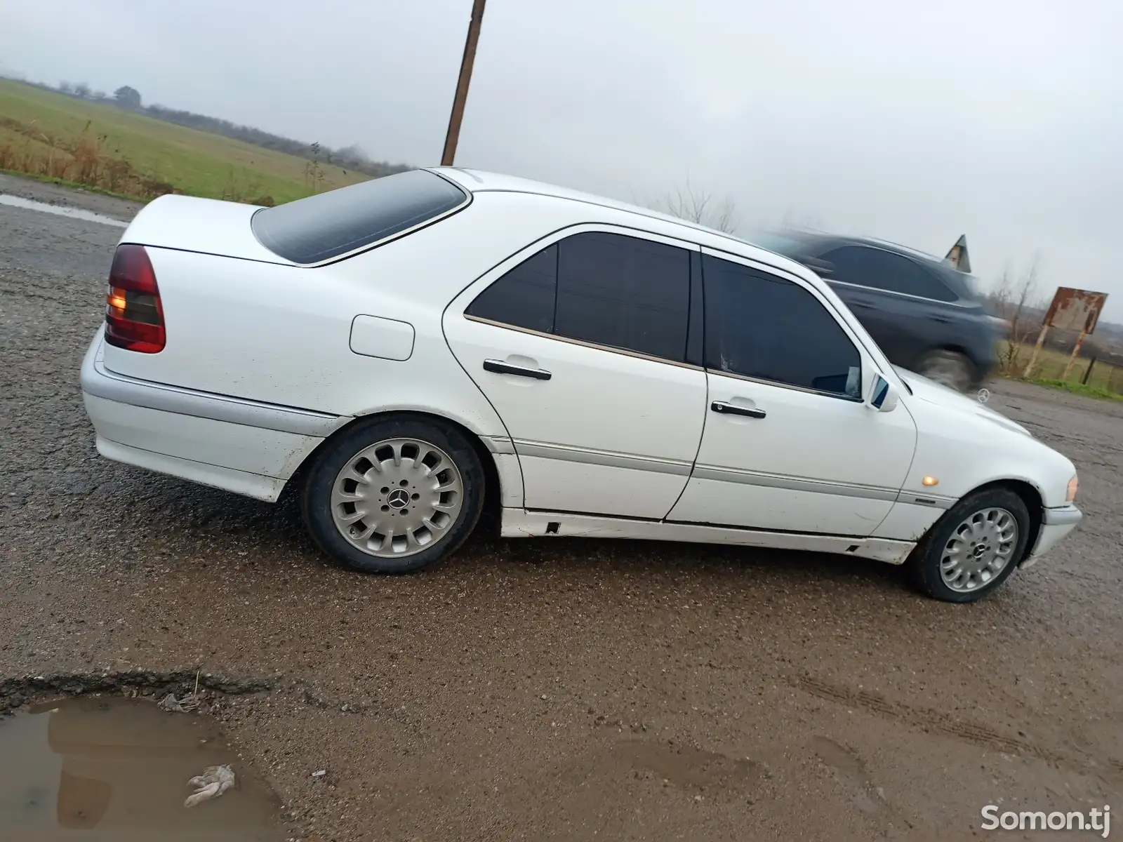
{"label": "wet gravelly asphalt road under and around the white sedan", "polygon": [[119,236],[0,205],[0,680],[272,679],[218,713],[289,836],[977,839],[986,804],[1123,814],[1123,403],[996,384],[1076,463],[1086,519],[978,605],[856,559],[583,539],[359,576],[291,502],[97,455],[77,372]]}

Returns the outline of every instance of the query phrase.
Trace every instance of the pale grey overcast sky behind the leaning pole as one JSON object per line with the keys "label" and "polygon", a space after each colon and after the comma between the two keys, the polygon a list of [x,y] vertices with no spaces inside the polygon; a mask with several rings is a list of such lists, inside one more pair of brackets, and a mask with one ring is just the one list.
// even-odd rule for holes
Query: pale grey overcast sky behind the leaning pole
{"label": "pale grey overcast sky behind the leaning pole", "polygon": [[[471,0],[2,0],[0,71],[437,164]],[[690,179],[1123,321],[1119,0],[489,0],[457,164],[650,201]]]}

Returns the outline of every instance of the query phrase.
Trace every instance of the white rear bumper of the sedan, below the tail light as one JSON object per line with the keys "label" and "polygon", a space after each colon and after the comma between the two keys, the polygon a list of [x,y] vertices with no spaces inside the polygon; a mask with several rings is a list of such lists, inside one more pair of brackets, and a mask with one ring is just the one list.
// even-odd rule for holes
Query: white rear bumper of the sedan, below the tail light
{"label": "white rear bumper of the sedan, below the tail light", "polygon": [[270,502],[348,420],[116,374],[104,366],[101,330],[81,383],[102,456]]}

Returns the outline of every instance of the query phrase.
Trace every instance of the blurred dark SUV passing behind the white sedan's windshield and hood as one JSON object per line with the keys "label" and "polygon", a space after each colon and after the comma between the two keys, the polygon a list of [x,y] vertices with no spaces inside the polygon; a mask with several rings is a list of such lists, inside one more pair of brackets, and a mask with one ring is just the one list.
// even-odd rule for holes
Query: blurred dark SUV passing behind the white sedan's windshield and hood
{"label": "blurred dark SUV passing behind the white sedan's windshield and hood", "polygon": [[997,361],[997,320],[974,278],[948,262],[855,237],[783,231],[748,239],[825,280],[894,365],[966,392]]}

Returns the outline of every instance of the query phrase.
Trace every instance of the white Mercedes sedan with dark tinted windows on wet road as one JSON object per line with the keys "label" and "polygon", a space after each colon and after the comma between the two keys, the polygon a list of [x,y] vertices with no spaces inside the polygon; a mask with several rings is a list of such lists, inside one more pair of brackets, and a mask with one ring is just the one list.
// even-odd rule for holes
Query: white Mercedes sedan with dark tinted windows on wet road
{"label": "white Mercedes sedan with dark tinted windows on wet road", "polygon": [[811,271],[678,219],[417,170],[276,208],[166,195],[82,365],[98,450],[404,573],[510,538],[779,547],[973,602],[1080,520],[1076,470],[893,368]]}

